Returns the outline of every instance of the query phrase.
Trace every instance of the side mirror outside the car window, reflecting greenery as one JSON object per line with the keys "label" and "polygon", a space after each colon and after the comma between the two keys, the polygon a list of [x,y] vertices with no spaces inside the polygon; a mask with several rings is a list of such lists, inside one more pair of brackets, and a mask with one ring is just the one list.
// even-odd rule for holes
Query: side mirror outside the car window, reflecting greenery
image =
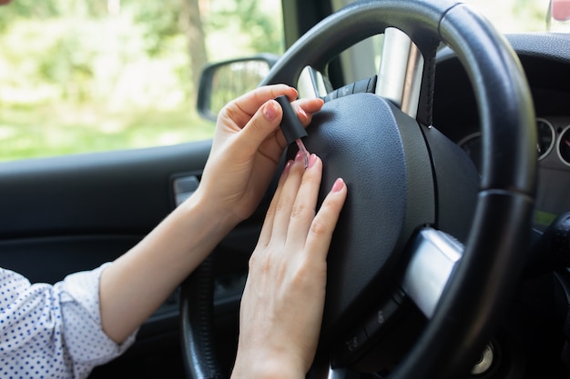
{"label": "side mirror outside the car window, reflecting greenery", "polygon": [[255,55],[207,65],[198,87],[198,114],[216,121],[221,108],[258,87],[277,55]]}

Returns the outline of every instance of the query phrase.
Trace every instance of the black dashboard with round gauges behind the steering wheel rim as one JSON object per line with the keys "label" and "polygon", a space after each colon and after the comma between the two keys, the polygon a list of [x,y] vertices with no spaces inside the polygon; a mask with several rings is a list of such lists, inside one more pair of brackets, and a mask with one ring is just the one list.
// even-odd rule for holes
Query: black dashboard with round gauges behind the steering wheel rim
{"label": "black dashboard with round gauges behind the steering wheel rim", "polygon": [[[534,100],[537,194],[534,228],[570,212],[570,35],[508,35]],[[482,159],[479,117],[469,79],[453,53],[438,55],[433,125],[472,158]]]}

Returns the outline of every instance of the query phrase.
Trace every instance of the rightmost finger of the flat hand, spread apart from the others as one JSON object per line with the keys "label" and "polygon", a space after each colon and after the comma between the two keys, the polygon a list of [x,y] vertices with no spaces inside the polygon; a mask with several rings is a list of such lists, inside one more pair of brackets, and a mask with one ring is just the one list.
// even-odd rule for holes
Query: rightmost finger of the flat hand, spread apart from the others
{"label": "rightmost finger of the flat hand, spread apart from the others", "polygon": [[320,261],[324,261],[327,258],[332,232],[339,220],[346,195],[346,184],[339,178],[332,185],[331,192],[325,197],[319,212],[317,212],[310,224],[306,251],[314,254],[315,258]]}

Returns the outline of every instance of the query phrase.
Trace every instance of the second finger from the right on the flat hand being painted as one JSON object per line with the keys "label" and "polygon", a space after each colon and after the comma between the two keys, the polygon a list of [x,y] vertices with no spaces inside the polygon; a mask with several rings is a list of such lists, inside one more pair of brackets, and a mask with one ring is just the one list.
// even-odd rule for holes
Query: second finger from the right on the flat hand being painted
{"label": "second finger from the right on the flat hand being painted", "polygon": [[302,244],[309,234],[310,224],[315,217],[321,177],[322,161],[317,155],[310,155],[309,166],[302,177],[299,192],[291,210],[288,233],[302,241]]}

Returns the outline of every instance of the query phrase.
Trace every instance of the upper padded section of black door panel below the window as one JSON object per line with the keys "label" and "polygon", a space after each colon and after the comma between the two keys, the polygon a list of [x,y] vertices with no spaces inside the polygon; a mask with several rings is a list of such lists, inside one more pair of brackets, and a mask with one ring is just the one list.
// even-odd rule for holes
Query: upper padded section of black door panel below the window
{"label": "upper padded section of black door panel below the window", "polygon": [[209,142],[0,165],[0,237],[145,234],[173,207],[173,175],[201,172]]}

